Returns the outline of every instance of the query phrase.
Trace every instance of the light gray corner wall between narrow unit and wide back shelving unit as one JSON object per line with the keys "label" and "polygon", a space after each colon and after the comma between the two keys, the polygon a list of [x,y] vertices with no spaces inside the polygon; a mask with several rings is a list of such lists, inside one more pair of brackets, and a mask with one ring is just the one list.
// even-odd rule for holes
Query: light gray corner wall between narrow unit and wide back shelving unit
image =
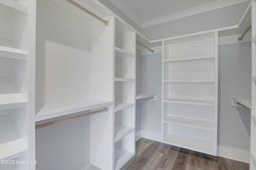
{"label": "light gray corner wall between narrow unit and wide back shelving unit", "polygon": [[162,53],[140,56],[137,52],[136,57],[136,91],[139,92],[141,88],[141,92],[152,92],[158,95],[157,101],[147,100],[136,104],[136,132],[141,127],[146,131],[161,133]]}

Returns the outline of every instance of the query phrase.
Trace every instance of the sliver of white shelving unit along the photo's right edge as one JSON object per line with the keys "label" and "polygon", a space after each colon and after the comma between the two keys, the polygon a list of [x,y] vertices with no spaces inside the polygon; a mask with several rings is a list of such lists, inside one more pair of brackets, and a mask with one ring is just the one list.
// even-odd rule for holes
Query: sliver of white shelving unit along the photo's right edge
{"label": "sliver of white shelving unit along the photo's right edge", "polygon": [[250,170],[256,170],[256,2],[252,0],[252,104],[250,133]]}

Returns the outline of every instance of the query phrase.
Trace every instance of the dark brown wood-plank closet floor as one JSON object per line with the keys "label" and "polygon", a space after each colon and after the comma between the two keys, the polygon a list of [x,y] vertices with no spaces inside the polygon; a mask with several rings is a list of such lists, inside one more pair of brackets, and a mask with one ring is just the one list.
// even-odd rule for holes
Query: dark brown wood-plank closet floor
{"label": "dark brown wood-plank closet floor", "polygon": [[249,170],[249,164],[141,138],[121,170]]}

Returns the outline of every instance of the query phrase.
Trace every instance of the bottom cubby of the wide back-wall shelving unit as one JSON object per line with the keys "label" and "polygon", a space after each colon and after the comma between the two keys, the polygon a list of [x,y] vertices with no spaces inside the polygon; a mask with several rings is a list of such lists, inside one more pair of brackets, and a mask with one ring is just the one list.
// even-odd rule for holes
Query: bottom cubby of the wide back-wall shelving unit
{"label": "bottom cubby of the wide back-wall shelving unit", "polygon": [[211,130],[164,123],[164,141],[207,154],[214,152],[214,131]]}

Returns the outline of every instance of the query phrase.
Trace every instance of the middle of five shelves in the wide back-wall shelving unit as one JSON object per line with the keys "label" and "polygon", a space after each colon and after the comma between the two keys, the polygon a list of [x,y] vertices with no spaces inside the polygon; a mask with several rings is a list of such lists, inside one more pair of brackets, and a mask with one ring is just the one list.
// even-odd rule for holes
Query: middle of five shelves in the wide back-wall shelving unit
{"label": "middle of five shelves in the wide back-wall shelving unit", "polygon": [[214,106],[214,101],[209,101],[209,100],[166,98],[166,99],[164,99],[164,102],[178,103],[178,104],[194,104],[194,105],[201,105],[201,106]]}

